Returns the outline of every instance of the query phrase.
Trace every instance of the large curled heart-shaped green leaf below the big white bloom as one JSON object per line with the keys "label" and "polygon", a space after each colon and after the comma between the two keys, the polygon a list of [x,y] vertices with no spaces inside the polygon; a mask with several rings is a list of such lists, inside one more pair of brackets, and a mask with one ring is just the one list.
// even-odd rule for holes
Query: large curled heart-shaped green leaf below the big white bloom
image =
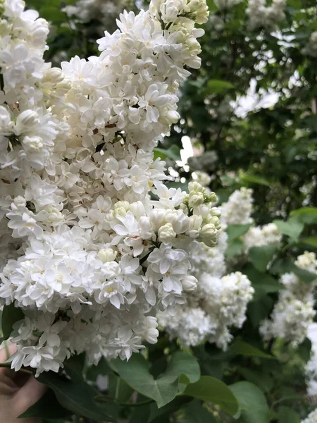
{"label": "large curled heart-shaped green leaf below the big white bloom", "polygon": [[159,408],[170,403],[177,395],[180,376],[182,384],[198,381],[200,376],[197,360],[182,352],[172,355],[166,371],[158,379],[154,379],[149,372],[149,362],[141,354],[132,355],[128,362],[113,360],[109,365],[128,385],[155,400]]}

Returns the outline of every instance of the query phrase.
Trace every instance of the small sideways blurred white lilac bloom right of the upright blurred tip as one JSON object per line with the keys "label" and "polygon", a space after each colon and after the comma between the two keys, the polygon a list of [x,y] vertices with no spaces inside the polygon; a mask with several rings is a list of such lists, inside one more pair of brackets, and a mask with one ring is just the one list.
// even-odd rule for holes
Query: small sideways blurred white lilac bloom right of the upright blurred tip
{"label": "small sideways blurred white lilac bloom right of the upright blurred tip", "polygon": [[244,235],[244,250],[249,251],[251,247],[263,247],[264,245],[278,245],[282,240],[278,226],[275,223],[268,223],[264,226],[254,226]]}

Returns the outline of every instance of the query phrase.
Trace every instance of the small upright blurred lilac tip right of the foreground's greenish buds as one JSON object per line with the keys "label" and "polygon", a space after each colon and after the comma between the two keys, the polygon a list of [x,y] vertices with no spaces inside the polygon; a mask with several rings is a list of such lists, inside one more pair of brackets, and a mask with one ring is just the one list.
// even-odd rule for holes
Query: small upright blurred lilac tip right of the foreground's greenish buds
{"label": "small upright blurred lilac tip right of the foreground's greenish buds", "polygon": [[221,204],[221,222],[223,226],[252,223],[253,190],[242,187],[230,195],[228,202]]}

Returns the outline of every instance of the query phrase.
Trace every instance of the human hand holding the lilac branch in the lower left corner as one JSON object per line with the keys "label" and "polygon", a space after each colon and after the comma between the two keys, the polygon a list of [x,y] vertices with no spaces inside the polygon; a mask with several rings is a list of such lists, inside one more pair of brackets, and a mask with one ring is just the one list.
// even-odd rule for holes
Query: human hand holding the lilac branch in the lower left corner
{"label": "human hand holding the lilac branch in the lower left corner", "polygon": [[[9,353],[15,352],[10,345]],[[7,360],[6,350],[0,350],[0,363]],[[18,419],[31,405],[37,403],[46,391],[32,375],[0,368],[0,422],[40,423],[39,419]]]}

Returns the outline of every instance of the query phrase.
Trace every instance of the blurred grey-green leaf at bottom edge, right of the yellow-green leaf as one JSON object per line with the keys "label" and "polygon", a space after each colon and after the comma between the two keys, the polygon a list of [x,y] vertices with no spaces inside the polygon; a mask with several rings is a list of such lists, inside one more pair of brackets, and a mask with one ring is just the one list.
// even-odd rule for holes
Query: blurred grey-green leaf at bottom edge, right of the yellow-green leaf
{"label": "blurred grey-green leaf at bottom edge, right of the yellow-green leaf", "polygon": [[[237,382],[230,386],[239,402],[238,423],[269,423],[269,410],[262,391],[250,382]],[[285,422],[286,423],[286,422]]]}

